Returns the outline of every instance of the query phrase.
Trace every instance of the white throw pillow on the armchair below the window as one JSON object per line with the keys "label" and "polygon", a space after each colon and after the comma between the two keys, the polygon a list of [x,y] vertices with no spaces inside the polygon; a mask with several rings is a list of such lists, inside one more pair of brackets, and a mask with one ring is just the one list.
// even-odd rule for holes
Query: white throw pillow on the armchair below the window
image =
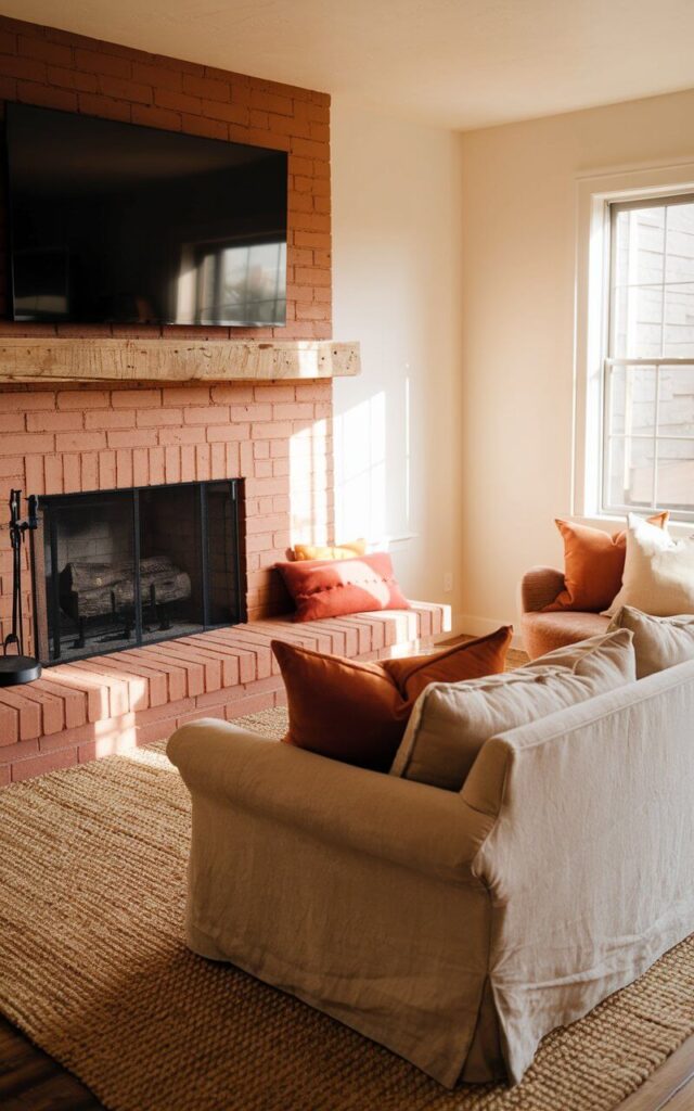
{"label": "white throw pillow on the armchair below the window", "polygon": [[654,617],[694,613],[694,543],[673,540],[666,529],[630,513],[622,589],[605,617],[623,605]]}

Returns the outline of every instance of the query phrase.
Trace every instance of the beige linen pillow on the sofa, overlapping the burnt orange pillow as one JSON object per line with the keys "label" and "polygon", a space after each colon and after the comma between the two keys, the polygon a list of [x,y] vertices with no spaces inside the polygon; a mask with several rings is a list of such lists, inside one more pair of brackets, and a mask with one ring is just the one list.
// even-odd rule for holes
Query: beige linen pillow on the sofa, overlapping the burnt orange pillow
{"label": "beige linen pillow on the sofa, overlapping the burnt orange pillow", "polygon": [[391,775],[460,791],[489,738],[634,682],[632,637],[620,629],[505,674],[431,683],[414,704]]}

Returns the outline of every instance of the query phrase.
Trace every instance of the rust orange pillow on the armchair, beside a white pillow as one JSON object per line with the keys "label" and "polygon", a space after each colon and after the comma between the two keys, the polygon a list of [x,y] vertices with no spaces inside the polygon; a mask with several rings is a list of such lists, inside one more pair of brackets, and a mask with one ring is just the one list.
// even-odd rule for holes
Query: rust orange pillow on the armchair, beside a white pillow
{"label": "rust orange pillow on the armchair, beside a white pillow", "polygon": [[[648,521],[664,529],[668,518],[668,512],[656,513]],[[611,536],[602,529],[560,519],[556,527],[564,540],[564,590],[551,605],[545,605],[545,611],[606,610],[622,588],[626,532]]]}

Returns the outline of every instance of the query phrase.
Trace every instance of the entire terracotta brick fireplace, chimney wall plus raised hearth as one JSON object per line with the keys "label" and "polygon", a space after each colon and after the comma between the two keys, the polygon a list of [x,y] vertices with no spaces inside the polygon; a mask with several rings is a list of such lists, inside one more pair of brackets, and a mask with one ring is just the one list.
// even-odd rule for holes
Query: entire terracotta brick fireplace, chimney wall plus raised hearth
{"label": "entire terracotta brick fireplace, chimney wall plus raised hearth", "polygon": [[[289,154],[286,327],[0,322],[2,635],[11,615],[2,507],[13,488],[50,498],[239,480],[248,613],[239,625],[59,664],[36,683],[0,690],[0,784],[163,739],[193,718],[278,704],[273,637],[378,659],[442,631],[445,607],[425,603],[292,625],[272,570],[293,542],[333,539],[332,387],[320,360],[335,352],[263,362],[257,342],[240,360],[231,349],[330,340],[329,97],[0,18],[0,112],[17,100]],[[6,288],[0,239],[0,316]],[[109,374],[123,367],[138,380]],[[24,588],[29,635],[28,577]]]}

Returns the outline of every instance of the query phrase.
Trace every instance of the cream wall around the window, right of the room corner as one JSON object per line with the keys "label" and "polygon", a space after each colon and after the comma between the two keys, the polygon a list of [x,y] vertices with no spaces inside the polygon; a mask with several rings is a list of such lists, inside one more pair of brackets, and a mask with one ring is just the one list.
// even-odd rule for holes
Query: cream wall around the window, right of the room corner
{"label": "cream wall around the window, right of the room corner", "polygon": [[461,609],[512,619],[571,511],[576,176],[694,156],[694,91],[469,132],[463,154]]}

